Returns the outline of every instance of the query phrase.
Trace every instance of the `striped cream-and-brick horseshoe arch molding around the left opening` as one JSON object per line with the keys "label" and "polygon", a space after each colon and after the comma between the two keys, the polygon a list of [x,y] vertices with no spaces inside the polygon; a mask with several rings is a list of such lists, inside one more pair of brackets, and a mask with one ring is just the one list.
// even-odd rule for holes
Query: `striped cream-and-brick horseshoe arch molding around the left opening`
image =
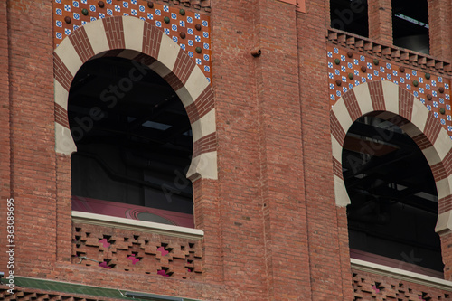
{"label": "striped cream-and-brick horseshoe arch molding around the left opening", "polygon": [[[86,61],[118,56],[146,65],[175,90],[184,103],[193,131],[193,159],[187,177],[218,179],[216,123],[212,86],[181,47],[159,28],[133,16],[99,19],[81,26],[53,52],[55,151],[76,151],[68,121],[71,81]],[[145,59],[144,59],[145,58]]]}

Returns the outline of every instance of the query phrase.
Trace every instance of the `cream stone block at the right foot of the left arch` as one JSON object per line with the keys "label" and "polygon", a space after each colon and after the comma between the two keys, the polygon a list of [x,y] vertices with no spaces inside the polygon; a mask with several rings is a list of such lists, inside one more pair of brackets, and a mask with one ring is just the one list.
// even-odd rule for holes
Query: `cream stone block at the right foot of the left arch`
{"label": "cream stone block at the right foot of the left arch", "polygon": [[187,178],[195,181],[202,179],[218,179],[217,152],[210,152],[198,155],[192,159],[192,164],[187,172]]}

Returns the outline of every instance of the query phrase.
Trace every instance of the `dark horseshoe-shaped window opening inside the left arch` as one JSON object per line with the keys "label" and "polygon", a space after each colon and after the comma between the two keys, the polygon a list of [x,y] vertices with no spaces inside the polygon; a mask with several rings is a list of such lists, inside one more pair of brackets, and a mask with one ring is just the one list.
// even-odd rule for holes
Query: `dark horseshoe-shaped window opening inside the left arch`
{"label": "dark horseshoe-shaped window opening inside the left arch", "polygon": [[193,227],[193,138],[174,89],[144,64],[86,62],[72,81],[72,210]]}

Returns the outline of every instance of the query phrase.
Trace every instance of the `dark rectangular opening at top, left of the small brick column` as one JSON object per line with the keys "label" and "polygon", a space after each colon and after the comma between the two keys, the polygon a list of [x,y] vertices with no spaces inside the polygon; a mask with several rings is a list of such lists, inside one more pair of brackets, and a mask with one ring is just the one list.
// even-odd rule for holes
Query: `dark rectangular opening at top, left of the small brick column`
{"label": "dark rectangular opening at top, left of the small brick column", "polygon": [[331,27],[369,37],[367,0],[331,0]]}

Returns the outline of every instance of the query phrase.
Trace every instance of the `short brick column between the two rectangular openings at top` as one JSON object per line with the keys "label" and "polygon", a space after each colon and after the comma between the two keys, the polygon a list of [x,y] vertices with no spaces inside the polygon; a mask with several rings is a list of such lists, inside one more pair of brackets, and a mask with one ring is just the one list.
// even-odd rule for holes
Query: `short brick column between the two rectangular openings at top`
{"label": "short brick column between the two rectangular openings at top", "polygon": [[368,0],[369,38],[383,44],[392,44],[391,0]]}

